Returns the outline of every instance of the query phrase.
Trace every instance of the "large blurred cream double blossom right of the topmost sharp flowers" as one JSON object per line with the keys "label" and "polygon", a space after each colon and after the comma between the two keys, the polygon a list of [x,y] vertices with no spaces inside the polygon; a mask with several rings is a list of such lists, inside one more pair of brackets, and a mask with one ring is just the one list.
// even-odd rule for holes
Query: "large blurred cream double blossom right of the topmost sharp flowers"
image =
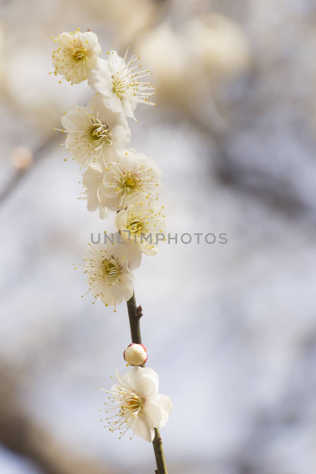
{"label": "large blurred cream double blossom right of the topmost sharp flowers", "polygon": [[195,102],[212,86],[247,71],[250,46],[243,30],[229,18],[208,14],[177,30],[164,22],[138,37],[137,49],[153,70],[159,100],[180,107]]}

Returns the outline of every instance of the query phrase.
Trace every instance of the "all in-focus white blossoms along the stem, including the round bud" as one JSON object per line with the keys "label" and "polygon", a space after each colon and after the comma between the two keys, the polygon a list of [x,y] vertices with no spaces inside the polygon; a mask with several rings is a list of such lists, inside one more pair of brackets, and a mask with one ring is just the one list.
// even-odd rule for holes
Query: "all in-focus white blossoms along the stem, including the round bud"
{"label": "all in-focus white blossoms along the stem, including the round bud", "polygon": [[[163,206],[157,203],[161,171],[152,158],[127,147],[131,133],[126,117],[135,119],[138,102],[155,105],[149,101],[155,88],[143,82],[150,71],[134,64],[139,60],[137,53],[129,61],[128,49],[124,58],[110,51],[107,59],[100,59],[98,37],[79,28],[52,38],[57,45],[54,74],[72,84],[87,80],[95,92],[86,106],[74,105],[64,113],[61,131],[73,160],[80,170],[85,168],[82,184],[88,210],[99,209],[101,219],[108,211],[117,212],[112,240],[89,244],[83,255],[88,292],[116,311],[117,304],[133,296],[133,270],[140,266],[142,254],[158,251],[158,239],[152,241],[152,234],[165,233]],[[110,413],[106,427],[118,430],[120,438],[131,429],[131,439],[136,435],[153,441],[155,429],[163,427],[171,415],[172,402],[158,393],[158,375],[143,366],[147,361],[144,345],[130,344],[124,359],[133,369],[123,377],[116,372],[116,383],[105,391],[111,401],[104,410]]]}

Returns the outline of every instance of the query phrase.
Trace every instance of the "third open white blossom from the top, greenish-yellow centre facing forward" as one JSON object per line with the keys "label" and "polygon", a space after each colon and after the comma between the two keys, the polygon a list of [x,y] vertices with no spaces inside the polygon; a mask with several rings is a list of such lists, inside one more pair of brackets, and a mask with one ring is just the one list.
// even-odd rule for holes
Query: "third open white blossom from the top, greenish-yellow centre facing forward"
{"label": "third open white blossom from the top, greenish-yellow centre facing forward", "polygon": [[125,147],[130,129],[123,113],[107,109],[99,95],[86,107],[72,106],[62,117],[67,134],[65,146],[77,163],[102,169],[116,159],[117,149]]}

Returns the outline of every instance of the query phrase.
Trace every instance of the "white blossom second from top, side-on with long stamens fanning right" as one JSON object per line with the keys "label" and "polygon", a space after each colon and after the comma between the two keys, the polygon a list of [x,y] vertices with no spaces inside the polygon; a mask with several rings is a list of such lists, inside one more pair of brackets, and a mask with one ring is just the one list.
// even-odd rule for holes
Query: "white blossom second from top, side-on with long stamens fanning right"
{"label": "white blossom second from top, side-on with long stamens fanning right", "polygon": [[106,107],[114,112],[124,112],[126,117],[134,117],[137,102],[156,105],[149,101],[155,94],[151,82],[143,78],[151,75],[149,70],[140,70],[141,65],[134,65],[139,59],[137,53],[127,61],[127,53],[121,58],[116,51],[108,52],[108,61],[99,59],[91,70],[88,83],[93,91],[102,94]]}

